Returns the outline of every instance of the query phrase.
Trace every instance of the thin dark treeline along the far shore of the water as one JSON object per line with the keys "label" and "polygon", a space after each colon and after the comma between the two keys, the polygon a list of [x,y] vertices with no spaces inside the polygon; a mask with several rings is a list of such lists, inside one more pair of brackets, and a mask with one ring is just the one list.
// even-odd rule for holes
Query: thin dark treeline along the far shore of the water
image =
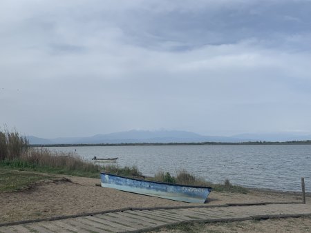
{"label": "thin dark treeline along the far shore of the water", "polygon": [[125,146],[125,145],[305,145],[311,144],[311,140],[305,141],[247,141],[241,143],[93,143],[93,144],[32,144],[33,147],[69,147],[69,146]]}

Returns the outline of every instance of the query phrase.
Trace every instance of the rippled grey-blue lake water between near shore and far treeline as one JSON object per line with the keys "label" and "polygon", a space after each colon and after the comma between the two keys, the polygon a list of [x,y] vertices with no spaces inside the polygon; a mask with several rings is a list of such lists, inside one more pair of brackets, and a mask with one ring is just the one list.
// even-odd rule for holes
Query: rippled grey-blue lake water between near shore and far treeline
{"label": "rippled grey-blue lake water between near shore and far treeline", "polygon": [[300,191],[301,176],[311,192],[311,145],[149,145],[64,147],[84,159],[119,157],[117,164],[137,165],[147,176],[186,169],[207,181],[253,188]]}

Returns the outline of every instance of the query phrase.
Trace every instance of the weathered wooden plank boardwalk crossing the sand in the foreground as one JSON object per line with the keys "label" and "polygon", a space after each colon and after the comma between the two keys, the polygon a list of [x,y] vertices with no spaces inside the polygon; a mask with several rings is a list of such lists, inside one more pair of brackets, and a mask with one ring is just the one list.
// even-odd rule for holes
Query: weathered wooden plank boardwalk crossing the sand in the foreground
{"label": "weathered wooden plank boardwalk crossing the sand in the foreground", "polygon": [[3,225],[0,232],[147,232],[185,222],[244,221],[311,215],[311,205],[267,204],[125,210],[54,221]]}

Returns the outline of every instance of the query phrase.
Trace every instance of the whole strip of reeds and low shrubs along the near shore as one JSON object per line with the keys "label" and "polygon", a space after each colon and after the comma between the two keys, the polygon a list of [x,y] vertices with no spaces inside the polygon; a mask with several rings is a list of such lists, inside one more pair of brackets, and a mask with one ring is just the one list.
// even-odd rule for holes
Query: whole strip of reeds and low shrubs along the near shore
{"label": "whole strip of reeds and low shrubs along the near shore", "polygon": [[[183,185],[200,185],[209,186],[218,192],[241,192],[247,193],[247,189],[238,185],[232,185],[229,179],[226,179],[223,184],[213,184],[205,181],[200,177],[194,176],[187,170],[176,171],[176,176],[169,172],[157,172],[153,177],[146,177],[138,170],[136,166],[124,168],[119,165],[104,165],[100,166],[85,161],[82,157],[74,152],[55,152],[47,148],[33,148],[29,145],[26,137],[20,136],[18,132],[8,132],[0,130],[0,173],[3,176],[1,181],[7,184],[7,188],[2,190],[14,190],[8,188],[12,183],[18,183],[16,171],[41,172],[46,174],[66,174],[72,176],[84,176],[89,178],[100,178],[100,172],[117,174],[120,176],[128,176],[138,179],[146,179],[149,181],[158,181],[164,183],[178,183]],[[12,177],[10,177],[12,176]],[[19,177],[23,179],[21,185],[30,184],[32,181],[37,181],[37,178],[32,176]],[[38,179],[41,179],[39,177]],[[13,185],[14,186],[14,185]],[[19,185],[15,187],[19,190]]]}

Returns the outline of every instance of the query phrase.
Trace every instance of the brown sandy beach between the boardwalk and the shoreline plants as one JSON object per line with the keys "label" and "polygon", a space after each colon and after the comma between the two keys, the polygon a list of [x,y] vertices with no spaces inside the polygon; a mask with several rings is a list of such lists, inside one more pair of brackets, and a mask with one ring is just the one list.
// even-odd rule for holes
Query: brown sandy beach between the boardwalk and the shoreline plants
{"label": "brown sandy beach between the boardwalk and the shoreline plants", "polygon": [[[65,178],[70,181],[66,181]],[[0,193],[0,222],[43,219],[125,207],[202,205],[102,188],[96,185],[100,184],[100,179],[77,176],[58,176],[57,179],[59,181],[38,183],[23,192]],[[309,199],[307,201],[311,201]],[[254,190],[247,194],[211,192],[207,201],[204,205],[292,202],[301,201],[301,196]]]}

